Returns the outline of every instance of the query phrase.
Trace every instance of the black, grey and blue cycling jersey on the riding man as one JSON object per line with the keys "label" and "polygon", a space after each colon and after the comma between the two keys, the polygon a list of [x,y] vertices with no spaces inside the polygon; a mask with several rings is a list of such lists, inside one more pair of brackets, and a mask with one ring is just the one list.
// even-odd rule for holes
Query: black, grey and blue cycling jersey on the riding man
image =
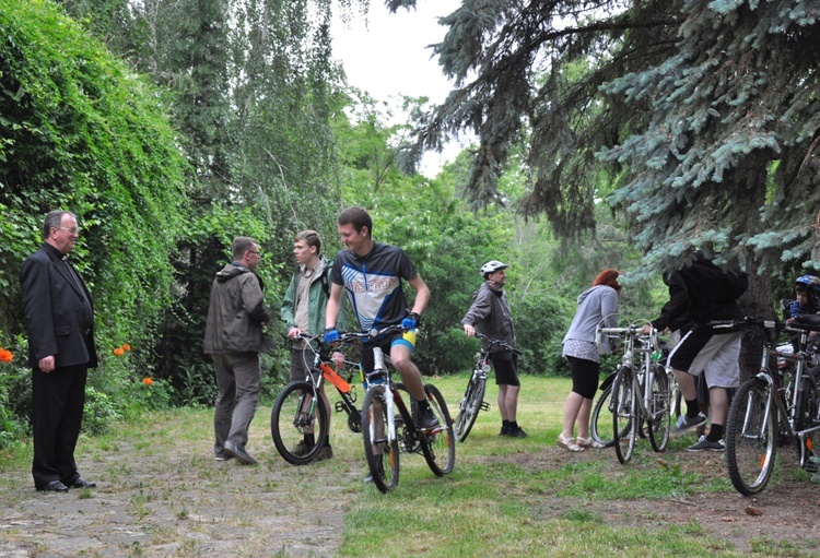
{"label": "black, grey and blue cycling jersey on the riding man", "polygon": [[330,276],[344,286],[362,331],[399,323],[407,317],[401,280],[418,275],[410,258],[396,246],[376,242],[365,257],[341,250]]}

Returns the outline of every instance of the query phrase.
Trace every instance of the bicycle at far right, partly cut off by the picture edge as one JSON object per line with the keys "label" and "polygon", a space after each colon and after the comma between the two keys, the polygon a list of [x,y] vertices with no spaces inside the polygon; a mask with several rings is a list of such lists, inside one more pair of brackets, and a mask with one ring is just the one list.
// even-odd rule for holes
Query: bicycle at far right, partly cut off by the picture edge
{"label": "bicycle at far right, partly cut off by the picture edge", "polygon": [[[810,333],[820,332],[820,316],[799,316],[792,324],[747,318],[710,325],[715,331],[763,328],[768,333],[760,371],[738,388],[726,419],[726,463],[731,484],[743,495],[762,491],[774,470],[777,446],[790,440],[797,442],[800,467],[816,471],[811,458],[820,443],[820,388],[807,370],[811,355],[806,346]],[[783,332],[799,336],[798,351],[775,346]],[[778,367],[778,360],[794,366]]]}

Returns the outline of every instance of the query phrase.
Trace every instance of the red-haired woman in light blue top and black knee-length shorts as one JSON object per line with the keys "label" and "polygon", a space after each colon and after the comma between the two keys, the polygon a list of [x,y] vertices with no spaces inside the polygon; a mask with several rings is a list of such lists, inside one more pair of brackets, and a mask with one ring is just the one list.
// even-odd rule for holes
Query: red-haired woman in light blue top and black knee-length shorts
{"label": "red-haired woman in light blue top and black knee-length shorts", "polygon": [[[618,295],[621,292],[618,275],[620,273],[616,270],[604,270],[595,277],[593,286],[578,296],[578,310],[564,335],[562,355],[572,369],[572,391],[564,404],[564,425],[558,436],[558,446],[567,451],[605,447],[589,436],[589,412],[600,373],[595,333],[599,323],[607,328],[618,325]],[[573,438],[576,423],[577,439]]]}

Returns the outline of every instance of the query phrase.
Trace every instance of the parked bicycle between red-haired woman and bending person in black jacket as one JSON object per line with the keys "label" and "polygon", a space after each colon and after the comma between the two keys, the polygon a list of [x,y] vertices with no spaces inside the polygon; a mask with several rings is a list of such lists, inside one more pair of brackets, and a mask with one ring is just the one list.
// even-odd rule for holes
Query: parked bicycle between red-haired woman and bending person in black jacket
{"label": "parked bicycle between red-haired woman and bending person in black jacket", "polygon": [[[644,322],[646,323],[646,322]],[[623,337],[623,356],[612,380],[609,409],[612,412],[612,444],[618,461],[626,463],[639,436],[649,438],[653,450],[664,451],[669,442],[671,393],[669,378],[658,364],[657,331],[641,335],[641,327],[598,328],[598,335]]]}

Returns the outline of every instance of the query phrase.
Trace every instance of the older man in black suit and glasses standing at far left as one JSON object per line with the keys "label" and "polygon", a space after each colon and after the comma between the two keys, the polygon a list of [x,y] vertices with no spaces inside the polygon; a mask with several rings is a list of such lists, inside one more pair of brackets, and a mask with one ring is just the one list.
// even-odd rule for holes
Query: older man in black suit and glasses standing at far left
{"label": "older man in black suit and glasses standing at far left", "polygon": [[34,462],[37,490],[66,492],[94,487],[77,471],[74,448],[85,404],[85,378],[97,366],[94,301],[67,254],[79,238],[77,217],[52,211],[43,224],[44,244],[20,272],[28,325]]}

